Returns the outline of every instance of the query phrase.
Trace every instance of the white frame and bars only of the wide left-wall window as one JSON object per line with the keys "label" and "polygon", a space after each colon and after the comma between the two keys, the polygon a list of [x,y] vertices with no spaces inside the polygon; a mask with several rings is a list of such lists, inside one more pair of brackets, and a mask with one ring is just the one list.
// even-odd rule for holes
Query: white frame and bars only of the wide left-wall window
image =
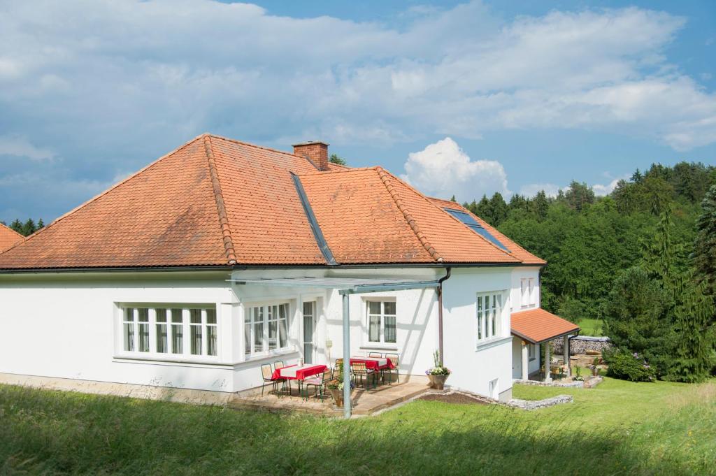
{"label": "white frame and bars only of the wide left-wall window", "polygon": [[[218,324],[218,314],[216,311],[216,303],[117,303],[119,309],[119,338],[117,348],[118,356],[132,359],[152,359],[152,360],[174,360],[174,361],[211,361],[216,362],[221,355],[219,349],[221,330]],[[132,320],[127,319],[127,311],[131,309]],[[147,319],[140,321],[140,317],[146,310]],[[164,311],[158,313],[157,311]],[[174,312],[173,312],[174,311]],[[178,312],[176,312],[178,311]],[[200,321],[196,323],[190,322],[191,311],[198,311]],[[164,314],[164,321],[158,321],[158,314]],[[180,321],[175,321],[180,316]],[[133,346],[127,349],[125,326],[132,324],[133,329]],[[148,339],[145,350],[140,350],[140,339],[142,334],[142,326],[146,326],[146,336]],[[164,351],[160,351],[159,337],[160,327],[163,327],[165,334]],[[201,349],[199,353],[191,352],[191,329],[200,329]],[[175,349],[175,339],[173,338],[175,331],[181,331],[181,349]],[[208,336],[213,334],[214,345],[209,345]],[[178,347],[178,346],[177,346]],[[209,355],[209,351],[213,351]]]}

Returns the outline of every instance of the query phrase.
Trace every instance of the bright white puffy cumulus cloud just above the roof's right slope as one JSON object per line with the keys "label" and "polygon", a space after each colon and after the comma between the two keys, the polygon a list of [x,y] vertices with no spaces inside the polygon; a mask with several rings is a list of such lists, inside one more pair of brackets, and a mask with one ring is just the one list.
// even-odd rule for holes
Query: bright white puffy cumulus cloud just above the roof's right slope
{"label": "bright white puffy cumulus cloud just above the roof's right slope", "polygon": [[511,195],[505,169],[495,160],[470,160],[457,142],[445,137],[420,152],[412,152],[401,178],[422,193],[438,198],[473,200],[483,194]]}

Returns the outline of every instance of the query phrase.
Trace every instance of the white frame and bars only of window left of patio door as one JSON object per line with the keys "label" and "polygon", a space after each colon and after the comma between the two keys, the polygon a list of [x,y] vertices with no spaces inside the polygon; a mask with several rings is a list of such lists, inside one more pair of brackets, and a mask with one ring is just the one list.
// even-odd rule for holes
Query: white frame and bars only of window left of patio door
{"label": "white frame and bars only of window left of patio door", "polygon": [[[284,307],[285,306],[285,307]],[[281,317],[281,307],[286,309],[286,313]],[[274,312],[274,308],[276,312]],[[261,309],[261,312],[254,310]],[[256,315],[260,314],[261,319],[256,319]],[[274,319],[276,316],[276,319]],[[291,303],[289,301],[274,301],[267,303],[247,303],[243,314],[243,334],[244,334],[244,360],[257,359],[265,356],[283,353],[291,350]],[[285,324],[286,342],[281,346],[281,323]],[[276,346],[271,348],[271,340],[269,338],[269,326],[276,323]],[[261,324],[261,350],[255,350],[256,325]],[[246,342],[248,341],[248,346]]]}

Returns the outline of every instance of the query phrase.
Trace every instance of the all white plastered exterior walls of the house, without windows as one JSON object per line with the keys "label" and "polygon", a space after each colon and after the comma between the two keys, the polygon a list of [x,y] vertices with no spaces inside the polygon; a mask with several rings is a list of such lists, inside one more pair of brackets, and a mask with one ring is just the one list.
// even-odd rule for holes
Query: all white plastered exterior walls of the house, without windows
{"label": "all white plastered exterior walls of the house, without windows", "polygon": [[[503,397],[511,390],[509,314],[514,296],[519,296],[518,273],[537,276],[535,268],[453,268],[443,294],[445,365],[453,371],[448,384],[489,395],[489,382],[497,379]],[[434,280],[444,274],[443,268],[312,268],[0,275],[0,373],[236,392],[261,385],[261,364],[278,359],[292,364],[303,357],[304,301],[317,304],[314,361],[332,365],[342,356],[342,296],[334,289],[238,285],[228,282],[230,278],[385,276]],[[488,291],[503,291],[499,337],[476,347],[475,298]],[[379,298],[396,301],[396,344],[367,341],[366,301]],[[349,299],[351,353],[396,353],[401,374],[425,375],[438,347],[437,291],[369,293]],[[244,361],[245,310],[258,303],[278,302],[289,303],[289,349]],[[120,303],[150,308],[152,303],[216,306],[218,356],[208,363],[167,361],[162,356],[155,360],[127,358],[122,351]],[[326,348],[327,340],[332,341],[331,349]]]}

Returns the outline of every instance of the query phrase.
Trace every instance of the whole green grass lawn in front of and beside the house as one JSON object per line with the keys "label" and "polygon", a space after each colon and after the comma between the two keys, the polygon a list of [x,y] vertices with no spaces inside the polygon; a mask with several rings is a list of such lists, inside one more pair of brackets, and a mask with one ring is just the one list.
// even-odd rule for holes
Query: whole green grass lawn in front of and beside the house
{"label": "whole green grass lawn in front of and beside the house", "polygon": [[563,393],[343,421],[0,385],[0,475],[716,474],[716,382],[514,389]]}

